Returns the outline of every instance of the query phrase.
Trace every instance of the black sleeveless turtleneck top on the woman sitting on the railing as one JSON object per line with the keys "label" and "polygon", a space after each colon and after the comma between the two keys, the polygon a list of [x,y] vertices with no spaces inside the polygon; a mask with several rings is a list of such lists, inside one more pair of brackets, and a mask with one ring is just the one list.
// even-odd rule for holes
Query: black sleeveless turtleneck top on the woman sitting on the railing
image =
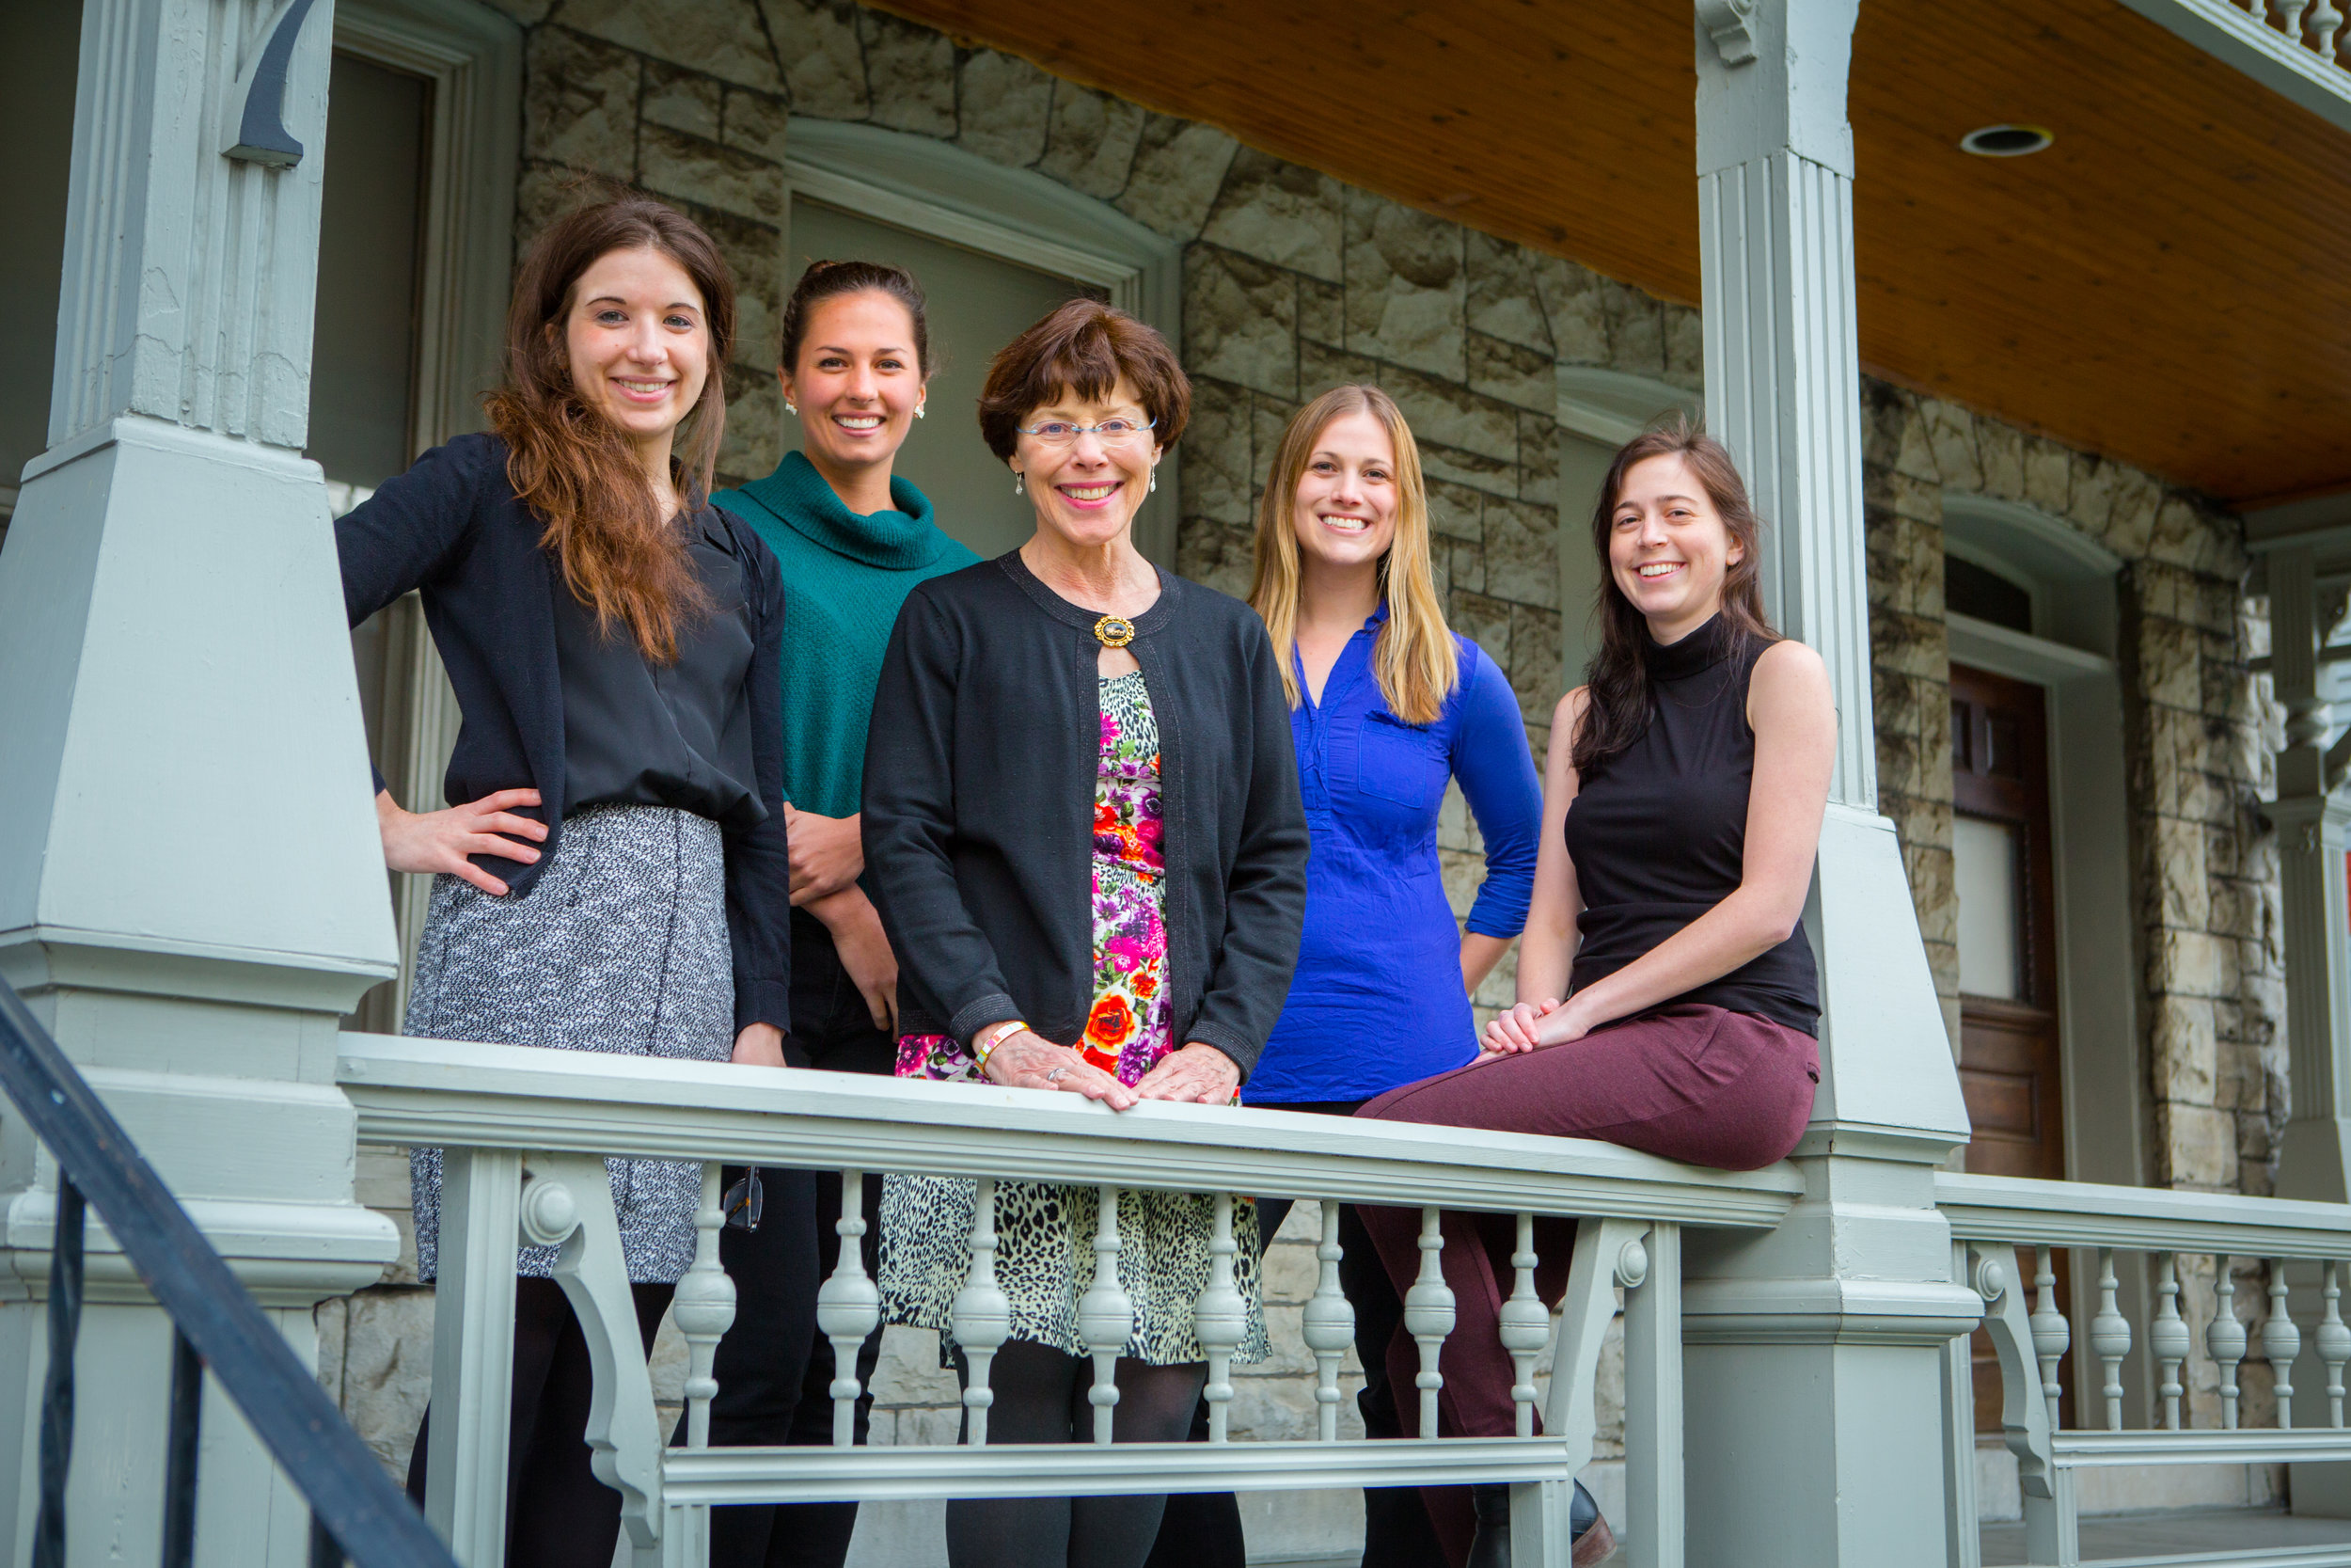
{"label": "black sleeveless turtleneck top on the woman sitting on the railing", "polygon": [[[1770,646],[1735,649],[1721,616],[1674,644],[1646,644],[1650,722],[1582,778],[1568,856],[1585,912],[1570,987],[1625,969],[1740,886],[1756,736],[1747,682]],[[1660,1006],[1704,1001],[1820,1032],[1820,978],[1803,926],[1761,957]]]}

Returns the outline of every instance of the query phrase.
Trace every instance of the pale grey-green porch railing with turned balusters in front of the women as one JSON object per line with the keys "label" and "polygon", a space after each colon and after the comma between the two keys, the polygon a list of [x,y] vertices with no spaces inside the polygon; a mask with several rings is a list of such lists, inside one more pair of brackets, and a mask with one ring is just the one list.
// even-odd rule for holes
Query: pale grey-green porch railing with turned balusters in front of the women
{"label": "pale grey-green porch railing with turned balusters in front of the women", "polygon": [[[1632,1563],[1679,1568],[1681,1552],[1681,1227],[1763,1229],[1801,1192],[1794,1171],[1721,1173],[1676,1166],[1599,1143],[1364,1124],[1284,1112],[1143,1105],[1112,1114],[1074,1095],[853,1074],[654,1063],[515,1046],[343,1034],[339,1072],[357,1105],[360,1135],[440,1145],[442,1248],[435,1309],[435,1408],[451,1408],[451,1441],[435,1420],[428,1516],[470,1568],[501,1561],[505,1486],[505,1382],[517,1241],[560,1244],[555,1276],[595,1356],[588,1441],[597,1474],[623,1497],[623,1530],[639,1568],[708,1561],[708,1509],[729,1502],[825,1497],[1023,1497],[1310,1486],[1512,1483],[1516,1561],[1566,1561],[1570,1481],[1592,1458],[1601,1338],[1625,1291],[1625,1448]],[[698,1248],[677,1288],[675,1319],[689,1347],[686,1443],[665,1448],[628,1295],[604,1157],[703,1164]],[[971,1276],[955,1305],[955,1335],[973,1363],[962,1443],[851,1448],[710,1448],[712,1352],[734,1321],[734,1286],[717,1262],[719,1164],[844,1171],[844,1234],[858,1234],[868,1171],[966,1175],[983,1201]],[[987,1201],[997,1178],[1072,1182],[1103,1192],[1096,1255],[1112,1258],[1117,1192],[1211,1192],[1213,1279],[1197,1305],[1211,1356],[1208,1443],[987,1446],[985,1361],[1009,1331],[994,1284]],[[1241,1340],[1232,1288],[1232,1213],[1239,1197],[1293,1197],[1321,1206],[1321,1288],[1305,1309],[1319,1368],[1321,1432],[1307,1441],[1225,1441],[1230,1354]],[[1422,1272],[1406,1293],[1406,1331],[1420,1342],[1418,1394],[1434,1406],[1436,1356],[1453,1333],[1453,1298],[1439,1272],[1441,1208],[1519,1215],[1514,1291],[1502,1347],[1516,1368],[1519,1434],[1491,1439],[1338,1441],[1338,1363],[1352,1307],[1338,1291],[1338,1201],[1422,1213]],[[1535,1295],[1533,1215],[1580,1220],[1556,1331]],[[851,1347],[879,1321],[858,1248],[842,1248],[825,1284],[823,1333]],[[1096,1352],[1093,1403],[1107,1418],[1117,1347],[1131,1302],[1098,1274],[1079,1312]],[[1533,1368],[1552,1345],[1552,1385],[1538,1427]],[[837,1366],[853,1368],[842,1354]],[[846,1413],[856,1382],[835,1385]],[[449,1403],[444,1403],[449,1401]],[[1425,1422],[1432,1429],[1434,1422]]]}

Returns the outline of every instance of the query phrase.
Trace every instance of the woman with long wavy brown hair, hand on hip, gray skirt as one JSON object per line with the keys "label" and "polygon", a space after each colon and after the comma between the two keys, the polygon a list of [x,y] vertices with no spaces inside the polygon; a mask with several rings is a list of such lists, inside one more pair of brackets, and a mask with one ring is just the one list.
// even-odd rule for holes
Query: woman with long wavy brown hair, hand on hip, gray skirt
{"label": "woman with long wavy brown hair, hand on hip, gray skirt", "polygon": [[[783,1065],[783,588],[757,534],[710,505],[734,327],[710,235],[637,195],[583,207],[522,263],[491,433],[428,451],[336,524],[350,623],[421,588],[463,712],[447,809],[404,811],[376,780],[383,863],[433,872],[409,1034]],[[609,1164],[651,1345],[694,1258],[701,1173]],[[440,1168],[440,1150],[411,1152],[421,1279]],[[590,1472],[588,1345],[552,1253],[515,1262],[513,1568],[607,1563],[621,1528]],[[414,1493],[423,1476],[418,1432]]]}

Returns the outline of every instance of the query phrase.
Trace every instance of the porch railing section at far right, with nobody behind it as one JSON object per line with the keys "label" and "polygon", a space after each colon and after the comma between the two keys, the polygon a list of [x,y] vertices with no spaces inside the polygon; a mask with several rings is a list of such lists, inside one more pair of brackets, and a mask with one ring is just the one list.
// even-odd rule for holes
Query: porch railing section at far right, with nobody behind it
{"label": "porch railing section at far right, with nobody behind it", "polygon": [[[2081,1563],[2076,1476],[2109,1465],[2278,1465],[2351,1460],[2344,1422],[2344,1366],[2351,1326],[2342,1316],[2344,1262],[2351,1260],[2351,1208],[2241,1194],[2099,1187],[1996,1175],[1935,1178],[1951,1225],[1954,1274],[1984,1298],[1984,1328],[2001,1366],[2001,1425],[2017,1458],[2024,1495],[2027,1561],[2048,1568]],[[2057,1286],[2057,1258],[2090,1265],[2076,1281],[2088,1295],[2083,1347],[2074,1345],[2071,1305]],[[2027,1262],[2027,1258],[2031,1262]],[[2121,1258],[2121,1262],[2118,1262]],[[2231,1265],[2262,1262],[2266,1312],[2241,1312]],[[2210,1267],[2210,1305],[2198,1312]],[[2316,1316],[2292,1312],[2292,1267],[2318,1286]],[[2132,1324],[2132,1307],[2142,1324]],[[2306,1324],[2306,1331],[2304,1331]],[[2142,1338],[2144,1335],[2144,1338]],[[2325,1382],[2299,1387],[2295,1361],[2316,1352]],[[2144,1347],[2144,1354],[2135,1354]],[[2203,1349],[2217,1373],[2217,1422],[2196,1425],[2184,1368]],[[2078,1420],[2059,1425],[2067,1361],[2095,1366],[2097,1380],[2071,1389]],[[2276,1418],[2245,1420],[2241,1371],[2266,1363]],[[1963,1363],[1963,1359],[1961,1359]],[[2151,1380],[2132,1387],[2132,1375]],[[1954,1373],[1963,1378],[1963,1373]],[[1954,1389],[1958,1420],[1972,1401]],[[2125,1420],[2139,1408],[2137,1425]],[[1965,1448],[1961,1450],[1965,1453]],[[2243,1554],[2168,1556],[2165,1563],[2243,1563]],[[2271,1561],[2271,1559],[2262,1559]],[[2351,1561],[2297,1554],[2297,1563]]]}

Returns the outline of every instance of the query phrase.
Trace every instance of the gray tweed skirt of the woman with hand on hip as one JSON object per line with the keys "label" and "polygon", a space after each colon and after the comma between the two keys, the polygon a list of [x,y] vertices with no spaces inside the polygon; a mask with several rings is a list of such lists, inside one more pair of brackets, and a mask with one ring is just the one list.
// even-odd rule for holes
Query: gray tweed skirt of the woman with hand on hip
{"label": "gray tweed skirt of the woman with hand on hip", "polygon": [[[719,825],[670,806],[588,806],[524,898],[442,875],[416,950],[407,1034],[552,1051],[724,1063],[734,1056],[734,952]],[[694,1262],[701,1166],[607,1159],[621,1251],[637,1284]],[[440,1272],[440,1150],[409,1150],[416,1274]],[[552,1246],[515,1272],[545,1279]]]}

